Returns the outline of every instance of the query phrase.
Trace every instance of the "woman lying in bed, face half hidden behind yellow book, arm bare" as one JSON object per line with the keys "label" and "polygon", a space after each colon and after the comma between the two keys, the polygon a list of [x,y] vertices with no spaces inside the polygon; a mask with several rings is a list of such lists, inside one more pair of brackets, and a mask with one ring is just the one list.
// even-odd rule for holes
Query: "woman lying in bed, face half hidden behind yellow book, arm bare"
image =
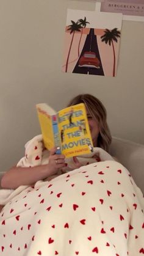
{"label": "woman lying in bed, face half hidden behind yellow book, arm bare", "polygon": [[[103,104],[98,100],[98,98],[89,94],[84,94],[74,97],[68,106],[73,106],[78,103],[84,103],[87,109],[88,123],[90,126],[94,147],[99,147],[106,152],[109,152],[109,146],[112,141],[112,137],[107,125],[107,112]],[[42,147],[44,146],[42,145]],[[47,153],[48,164],[43,164],[42,166],[37,165],[33,167],[23,166],[23,168],[21,166],[12,167],[2,177],[1,187],[16,189],[21,185],[32,185],[38,180],[45,180],[49,176],[57,174],[59,170],[63,169],[63,172],[65,172],[67,170],[76,169],[84,165],[84,163],[80,163],[79,160],[74,157],[72,167],[68,167],[67,163],[65,162],[65,156],[57,155],[56,150],[57,148],[52,148],[50,152],[46,152],[47,150],[45,150],[43,153],[45,157]],[[99,155],[94,154],[92,155],[92,158],[93,161],[95,161],[95,159],[97,161],[101,161]],[[27,162],[28,161],[29,159],[27,159]],[[92,161],[90,161],[90,163],[92,163]]]}

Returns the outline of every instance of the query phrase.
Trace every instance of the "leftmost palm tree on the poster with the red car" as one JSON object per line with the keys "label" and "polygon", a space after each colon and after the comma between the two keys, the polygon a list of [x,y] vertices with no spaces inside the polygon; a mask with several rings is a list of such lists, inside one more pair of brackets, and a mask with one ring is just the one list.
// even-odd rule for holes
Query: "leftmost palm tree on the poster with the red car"
{"label": "leftmost palm tree on the poster with the red car", "polygon": [[72,38],[71,38],[71,43],[70,43],[70,49],[68,51],[68,57],[67,57],[67,62],[66,62],[66,65],[65,65],[65,72],[67,72],[68,70],[68,60],[69,60],[69,57],[70,57],[70,51],[71,51],[71,46],[73,44],[73,38],[74,38],[74,34],[75,32],[81,32],[81,25],[77,22],[74,22],[73,20],[71,20],[71,25],[69,25],[67,31],[70,31],[70,34],[73,34],[72,35]]}

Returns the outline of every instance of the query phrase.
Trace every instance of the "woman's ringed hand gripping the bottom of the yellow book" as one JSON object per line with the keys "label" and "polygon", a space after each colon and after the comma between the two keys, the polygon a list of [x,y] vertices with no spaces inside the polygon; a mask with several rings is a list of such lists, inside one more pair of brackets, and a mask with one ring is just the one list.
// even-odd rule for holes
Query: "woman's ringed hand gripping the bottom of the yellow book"
{"label": "woman's ringed hand gripping the bottom of the yellow book", "polygon": [[49,151],[48,169],[52,174],[56,174],[59,169],[65,167],[65,156],[56,154],[57,148],[51,148]]}

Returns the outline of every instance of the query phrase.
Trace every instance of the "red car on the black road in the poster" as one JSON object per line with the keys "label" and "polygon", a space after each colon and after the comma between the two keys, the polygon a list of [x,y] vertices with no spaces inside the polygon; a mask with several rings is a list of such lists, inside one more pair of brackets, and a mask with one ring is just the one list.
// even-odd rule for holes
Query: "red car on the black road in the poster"
{"label": "red car on the black road in the poster", "polygon": [[100,68],[100,61],[93,51],[85,51],[79,59],[79,67]]}

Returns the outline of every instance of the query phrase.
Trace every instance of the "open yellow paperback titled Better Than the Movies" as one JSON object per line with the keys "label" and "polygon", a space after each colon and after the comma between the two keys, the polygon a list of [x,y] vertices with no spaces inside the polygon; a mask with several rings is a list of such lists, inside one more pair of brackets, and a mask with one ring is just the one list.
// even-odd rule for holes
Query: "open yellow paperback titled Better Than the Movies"
{"label": "open yellow paperback titled Better Than the Movies", "polygon": [[46,103],[36,105],[45,147],[57,147],[66,158],[93,152],[85,104],[80,103],[58,112]]}

